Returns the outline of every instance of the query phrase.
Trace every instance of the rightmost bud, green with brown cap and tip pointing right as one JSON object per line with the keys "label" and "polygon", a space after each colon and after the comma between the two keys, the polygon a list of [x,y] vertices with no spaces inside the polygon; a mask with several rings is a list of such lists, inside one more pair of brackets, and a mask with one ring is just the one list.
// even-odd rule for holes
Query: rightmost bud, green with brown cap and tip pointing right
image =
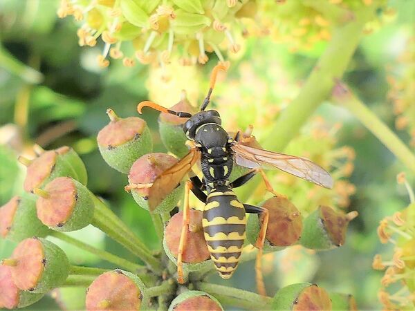
{"label": "rightmost bud, green with brown cap and tip pointing right", "polygon": [[339,247],[346,239],[349,221],[357,215],[356,211],[344,214],[322,205],[304,219],[304,229],[299,243],[311,249]]}

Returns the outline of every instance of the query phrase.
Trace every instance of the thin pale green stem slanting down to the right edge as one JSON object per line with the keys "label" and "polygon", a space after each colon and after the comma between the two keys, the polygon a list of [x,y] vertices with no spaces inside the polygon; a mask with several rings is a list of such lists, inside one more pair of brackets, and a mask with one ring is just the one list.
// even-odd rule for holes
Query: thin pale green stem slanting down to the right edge
{"label": "thin pale green stem slanting down to the right edge", "polygon": [[415,156],[398,136],[370,111],[347,86],[340,82],[333,89],[333,100],[346,107],[403,164],[415,172]]}

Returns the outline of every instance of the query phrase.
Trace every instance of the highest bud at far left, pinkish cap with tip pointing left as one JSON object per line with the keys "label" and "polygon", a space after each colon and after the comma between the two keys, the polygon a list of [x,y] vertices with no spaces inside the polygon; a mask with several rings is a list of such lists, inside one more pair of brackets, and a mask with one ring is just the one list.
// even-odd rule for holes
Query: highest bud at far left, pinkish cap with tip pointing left
{"label": "highest bud at far left, pinkish cap with tip pointing left", "polygon": [[72,177],[86,184],[86,169],[79,156],[69,147],[44,151],[34,160],[19,157],[27,166],[24,190],[33,193],[33,189],[42,188],[50,180],[60,176]]}

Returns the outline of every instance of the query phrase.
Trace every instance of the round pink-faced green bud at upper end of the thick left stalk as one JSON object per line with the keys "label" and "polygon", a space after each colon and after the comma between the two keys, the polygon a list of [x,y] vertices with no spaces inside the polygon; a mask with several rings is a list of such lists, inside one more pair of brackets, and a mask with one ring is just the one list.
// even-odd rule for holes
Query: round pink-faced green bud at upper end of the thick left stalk
{"label": "round pink-faced green bud at upper end of the thick left stalk", "polygon": [[35,189],[37,217],[51,229],[74,231],[91,223],[94,204],[88,189],[73,178],[55,178],[44,190]]}

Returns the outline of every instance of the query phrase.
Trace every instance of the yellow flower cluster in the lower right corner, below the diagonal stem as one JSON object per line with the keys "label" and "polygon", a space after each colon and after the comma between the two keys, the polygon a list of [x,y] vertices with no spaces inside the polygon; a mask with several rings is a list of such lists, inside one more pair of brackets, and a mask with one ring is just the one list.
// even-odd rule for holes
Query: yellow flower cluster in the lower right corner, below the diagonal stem
{"label": "yellow flower cluster in the lower right corner, below the diagonal stem", "polygon": [[[386,310],[414,310],[415,307],[415,196],[404,173],[398,175],[398,183],[405,185],[410,204],[402,211],[380,221],[378,236],[381,243],[395,245],[391,259],[385,261],[376,254],[372,267],[385,270],[380,283],[378,298]],[[389,285],[398,290],[391,294]]]}

